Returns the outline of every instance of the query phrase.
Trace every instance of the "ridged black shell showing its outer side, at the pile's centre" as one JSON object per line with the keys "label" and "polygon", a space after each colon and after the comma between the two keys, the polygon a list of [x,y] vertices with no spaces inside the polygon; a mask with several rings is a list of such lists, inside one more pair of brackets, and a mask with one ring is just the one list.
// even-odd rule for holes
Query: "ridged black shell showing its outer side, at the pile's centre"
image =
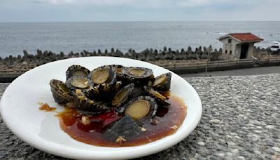
{"label": "ridged black shell showing its outer side, at the pile's centre", "polygon": [[121,83],[116,82],[114,84],[99,84],[90,88],[87,93],[93,100],[100,100],[102,102],[111,103],[111,100],[120,90]]}

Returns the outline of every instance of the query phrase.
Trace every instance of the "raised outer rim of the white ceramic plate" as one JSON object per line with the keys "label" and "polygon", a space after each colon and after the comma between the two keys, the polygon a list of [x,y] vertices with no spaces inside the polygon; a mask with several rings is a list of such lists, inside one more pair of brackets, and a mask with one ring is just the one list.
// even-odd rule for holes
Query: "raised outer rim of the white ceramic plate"
{"label": "raised outer rim of the white ceramic plate", "polygon": [[[140,60],[133,60],[133,59],[130,59],[130,58],[118,58],[118,57],[109,57],[109,56],[94,56],[94,57],[81,57],[81,58],[78,58],[78,59],[85,59],[85,58],[113,58],[113,59],[122,59],[122,60],[132,60],[132,61],[140,61]],[[9,128],[9,130],[14,134],[16,135],[18,138],[20,138],[22,141],[24,142],[27,142],[27,144],[31,145],[32,147],[35,147],[36,149],[40,149],[41,151],[43,152],[48,152],[50,154],[54,154],[54,155],[57,155],[57,156],[62,156],[62,157],[66,157],[66,158],[71,158],[71,159],[132,159],[132,158],[137,158],[137,157],[140,157],[140,156],[147,156],[147,155],[151,155],[151,154],[155,154],[157,152],[160,152],[160,151],[163,151],[169,147],[172,147],[174,145],[176,145],[177,143],[181,142],[183,139],[187,138],[188,135],[190,135],[190,133],[192,133],[195,128],[197,127],[197,125],[199,124],[200,122],[200,119],[202,117],[202,102],[200,100],[200,96],[197,94],[197,91],[195,91],[195,88],[193,88],[193,86],[191,86],[188,81],[186,81],[185,79],[183,79],[181,76],[179,76],[178,74],[170,71],[169,69],[166,69],[168,70],[168,72],[172,72],[172,74],[176,74],[176,78],[179,78],[183,81],[186,82],[186,84],[188,85],[188,87],[190,87],[191,90],[193,90],[194,92],[194,96],[196,97],[197,99],[197,115],[196,115],[196,119],[195,119],[195,122],[192,124],[192,127],[191,128],[188,128],[188,131],[186,131],[188,134],[184,134],[183,136],[179,137],[179,138],[176,138],[176,140],[174,140],[173,142],[170,142],[168,145],[163,145],[161,146],[159,149],[158,148],[155,148],[155,149],[146,149],[146,152],[132,152],[132,150],[141,150],[141,147],[144,147],[145,145],[151,145],[151,144],[157,144],[159,140],[156,140],[154,142],[151,142],[151,143],[148,143],[148,144],[145,144],[145,145],[139,145],[139,146],[135,146],[135,147],[118,147],[118,148],[123,148],[123,150],[120,150],[120,151],[111,151],[111,154],[116,154],[115,156],[109,156],[108,153],[106,152],[96,152],[96,151],[91,151],[91,153],[93,154],[90,154],[90,155],[85,155],[85,154],[88,154],[89,152],[88,151],[82,151],[82,150],[79,150],[80,154],[77,154],[77,155],[73,155],[73,154],[69,154],[69,152],[62,152],[61,150],[59,150],[59,145],[57,144],[51,144],[52,147],[50,147],[49,145],[50,144],[46,144],[46,143],[38,143],[40,145],[38,145],[36,142],[37,140],[40,140],[38,138],[28,138],[27,135],[25,134],[20,134],[20,132],[18,132],[16,130],[16,128],[13,128],[13,124],[10,122],[10,121],[7,121],[8,118],[3,109],[5,107],[3,107],[3,103],[6,101],[6,93],[7,91],[10,90],[11,86],[13,86],[13,84],[16,84],[18,83],[18,81],[20,81],[20,79],[22,79],[22,76],[25,76],[25,74],[31,74],[32,72],[36,71],[36,69],[38,69],[39,67],[46,67],[47,65],[51,65],[52,63],[57,63],[57,62],[62,62],[62,61],[67,61],[67,60],[73,60],[73,59],[77,59],[77,58],[67,58],[67,59],[64,59],[64,60],[57,60],[57,61],[54,61],[54,62],[48,62],[44,65],[40,65],[38,67],[35,67],[34,69],[30,69],[29,71],[25,72],[24,74],[18,76],[18,78],[16,78],[12,83],[9,84],[9,86],[6,88],[6,90],[3,92],[3,95],[1,97],[1,101],[0,101],[0,114],[2,116],[2,119],[3,119],[3,122],[5,123],[5,125]],[[140,61],[140,62],[144,62],[144,61]],[[158,65],[154,65],[154,64],[151,64],[149,62],[144,62],[146,63],[147,65],[153,65],[155,67],[160,67]],[[165,69],[163,67],[160,67],[160,69]],[[186,114],[186,117],[188,116],[188,113]],[[184,119],[184,121],[186,121],[186,119]],[[184,122],[183,121],[183,122]],[[178,131],[176,131],[176,133],[178,133]],[[176,135],[176,133],[172,134],[172,135]],[[167,135],[165,138],[169,137],[170,135]],[[162,140],[164,138],[161,138],[160,140]],[[46,141],[46,140],[45,140]],[[49,143],[52,143],[52,142],[49,142]],[[96,146],[96,147],[100,147],[100,146]],[[102,147],[102,148],[108,148],[108,147]],[[112,148],[112,147],[109,147],[109,148]],[[116,147],[113,147],[113,148],[116,148]],[[74,150],[77,150],[75,148],[72,148],[72,147],[69,147],[67,148],[67,150],[71,150],[71,149],[74,149]],[[83,153],[84,152],[84,153]],[[130,152],[129,155],[127,156],[123,156],[121,155],[120,153],[121,152]],[[94,155],[94,154],[99,154],[99,155]],[[119,154],[119,155],[118,155]],[[94,155],[94,156],[92,156]]]}

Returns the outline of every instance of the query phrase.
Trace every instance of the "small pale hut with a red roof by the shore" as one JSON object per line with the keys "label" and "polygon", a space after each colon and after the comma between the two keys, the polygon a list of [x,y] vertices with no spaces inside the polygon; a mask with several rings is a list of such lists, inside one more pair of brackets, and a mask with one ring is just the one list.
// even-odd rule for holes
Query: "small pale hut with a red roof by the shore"
{"label": "small pale hut with a red roof by the shore", "polygon": [[263,41],[251,33],[232,33],[219,38],[223,42],[223,59],[245,59],[253,56],[255,43]]}

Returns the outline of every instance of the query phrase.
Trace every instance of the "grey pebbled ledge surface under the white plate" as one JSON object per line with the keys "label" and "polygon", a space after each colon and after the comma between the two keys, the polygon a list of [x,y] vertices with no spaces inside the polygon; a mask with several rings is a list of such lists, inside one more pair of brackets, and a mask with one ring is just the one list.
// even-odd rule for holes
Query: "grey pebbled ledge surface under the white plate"
{"label": "grey pebbled ledge surface under the white plate", "polygon": [[[141,159],[280,159],[280,74],[186,80],[202,99],[200,124],[178,145]],[[62,158],[22,142],[0,117],[0,159]]]}

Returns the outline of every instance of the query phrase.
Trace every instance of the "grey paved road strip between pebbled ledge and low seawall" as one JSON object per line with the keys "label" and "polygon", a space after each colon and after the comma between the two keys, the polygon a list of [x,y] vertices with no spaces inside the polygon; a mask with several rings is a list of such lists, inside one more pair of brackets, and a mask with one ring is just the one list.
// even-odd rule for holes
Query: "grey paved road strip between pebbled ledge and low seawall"
{"label": "grey paved road strip between pebbled ledge and low seawall", "polygon": [[[257,74],[280,74],[280,66],[274,67],[255,67],[248,69],[235,69],[235,70],[227,70],[227,71],[216,71],[216,72],[208,72],[207,76],[246,76],[246,75],[257,75]],[[197,73],[197,74],[181,74],[183,77],[198,77],[205,76],[205,73]]]}

